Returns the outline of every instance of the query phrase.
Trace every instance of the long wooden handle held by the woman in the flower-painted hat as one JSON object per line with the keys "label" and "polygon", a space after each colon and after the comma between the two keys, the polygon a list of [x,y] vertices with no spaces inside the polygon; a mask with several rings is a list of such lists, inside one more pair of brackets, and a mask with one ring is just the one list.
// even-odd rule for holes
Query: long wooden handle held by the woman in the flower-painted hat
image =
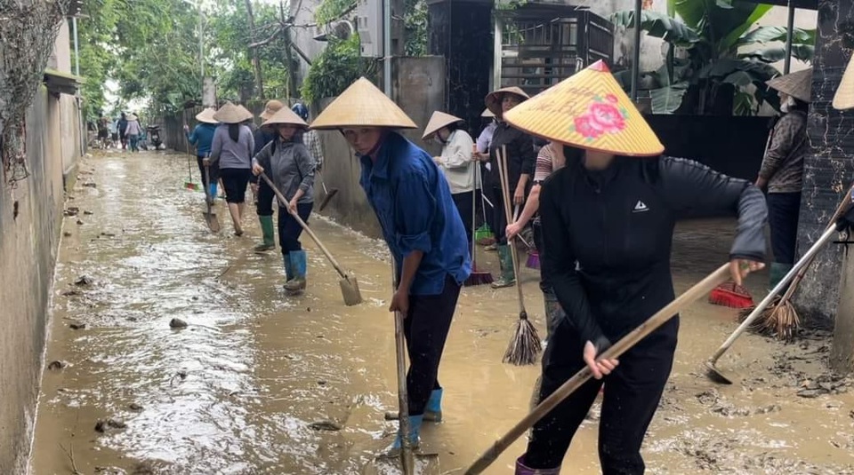
{"label": "long wooden handle held by the woman in the flower-painted hat", "polygon": [[[645,336],[648,336],[650,333],[664,325],[666,321],[673,318],[673,315],[680,313],[681,310],[692,304],[694,301],[705,297],[718,284],[727,281],[727,279],[729,279],[729,263],[721,265],[718,270],[709,274],[705,279],[699,281],[697,285],[688,289],[684,294],[666,305],[665,308],[649,317],[649,319],[641,323],[638,328],[633,329],[631,333],[620,338],[620,340],[608,348],[608,350],[602,352],[599,359],[604,360],[619,357],[641,341]],[[496,440],[492,447],[489,447],[483,455],[480,455],[478,460],[471,464],[471,467],[465,471],[465,475],[476,475],[487,470],[487,467],[491,463],[495,462],[498,455],[501,455],[502,452],[504,452],[507,447],[510,447],[516,439],[519,439],[525,431],[528,431],[529,428],[533,427],[537,421],[551,412],[552,409],[560,404],[561,401],[567,399],[569,394],[575,392],[576,389],[581,387],[581,385],[586,383],[591,377],[592,373],[590,372],[590,368],[587,368],[586,366],[584,369],[578,371],[575,376],[569,378],[566,383],[562,384],[555,392],[552,392],[552,395],[545,398],[543,402],[540,402],[540,404],[537,405],[537,407],[534,408],[528,416],[525,416],[525,418],[507,432],[504,437]]]}

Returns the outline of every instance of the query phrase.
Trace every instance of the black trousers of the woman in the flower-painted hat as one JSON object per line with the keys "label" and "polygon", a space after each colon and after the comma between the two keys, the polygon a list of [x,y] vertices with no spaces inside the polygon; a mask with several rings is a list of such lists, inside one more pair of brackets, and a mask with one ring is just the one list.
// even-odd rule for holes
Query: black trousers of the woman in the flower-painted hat
{"label": "black trousers of the woman in the flower-painted hat", "polygon": [[[578,426],[584,421],[602,383],[599,458],[604,475],[641,475],[645,466],[641,442],[673,368],[679,319],[665,323],[620,357],[620,365],[604,379],[591,379],[534,425],[525,464],[533,469],[559,467]],[[564,319],[543,355],[540,401],[584,368],[580,341]]]}

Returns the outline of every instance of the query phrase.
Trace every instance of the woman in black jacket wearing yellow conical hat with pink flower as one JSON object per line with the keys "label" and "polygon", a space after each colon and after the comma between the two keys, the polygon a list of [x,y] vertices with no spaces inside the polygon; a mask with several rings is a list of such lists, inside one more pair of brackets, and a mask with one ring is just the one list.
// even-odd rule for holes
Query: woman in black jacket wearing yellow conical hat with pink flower
{"label": "woman in black jacket wearing yellow conical hat with pink flower", "polygon": [[761,269],[767,218],[762,194],[745,180],[661,156],[664,146],[601,61],[506,118],[521,130],[584,149],[581,157],[568,154],[567,165],[540,192],[544,279],[566,313],[543,357],[540,400],[585,365],[594,376],[534,426],[516,473],[560,472],[604,381],[602,472],[641,474],[641,442],[670,376],[679,319],[619,361],[597,355],[673,300],[670,254],[677,220],[738,217],[728,257],[733,279],[740,284],[746,273]]}

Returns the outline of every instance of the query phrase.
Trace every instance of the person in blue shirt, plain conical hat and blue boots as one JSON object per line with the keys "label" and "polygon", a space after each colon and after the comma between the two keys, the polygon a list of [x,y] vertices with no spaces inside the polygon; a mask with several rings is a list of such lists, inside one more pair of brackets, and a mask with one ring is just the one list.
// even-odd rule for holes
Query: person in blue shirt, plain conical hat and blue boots
{"label": "person in blue shirt, plain conical hat and blue boots", "polygon": [[[415,123],[367,79],[351,84],[311,128],[337,129],[356,150],[359,184],[394,258],[399,279],[389,310],[406,318],[407,437],[416,446],[423,420],[441,418],[439,360],[471,272],[463,221],[431,155],[395,131]],[[401,445],[399,431],[392,448]]]}

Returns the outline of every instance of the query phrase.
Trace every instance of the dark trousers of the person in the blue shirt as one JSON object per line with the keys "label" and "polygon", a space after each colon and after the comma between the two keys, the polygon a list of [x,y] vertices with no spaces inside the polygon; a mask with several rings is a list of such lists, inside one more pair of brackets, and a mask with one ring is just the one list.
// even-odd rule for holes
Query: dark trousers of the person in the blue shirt
{"label": "dark trousers of the person in the blue shirt", "polygon": [[421,416],[430,393],[439,389],[439,361],[445,350],[447,332],[460,297],[460,285],[447,275],[442,293],[432,296],[409,296],[409,312],[403,321],[407,339],[409,370],[407,392],[409,416]]}

